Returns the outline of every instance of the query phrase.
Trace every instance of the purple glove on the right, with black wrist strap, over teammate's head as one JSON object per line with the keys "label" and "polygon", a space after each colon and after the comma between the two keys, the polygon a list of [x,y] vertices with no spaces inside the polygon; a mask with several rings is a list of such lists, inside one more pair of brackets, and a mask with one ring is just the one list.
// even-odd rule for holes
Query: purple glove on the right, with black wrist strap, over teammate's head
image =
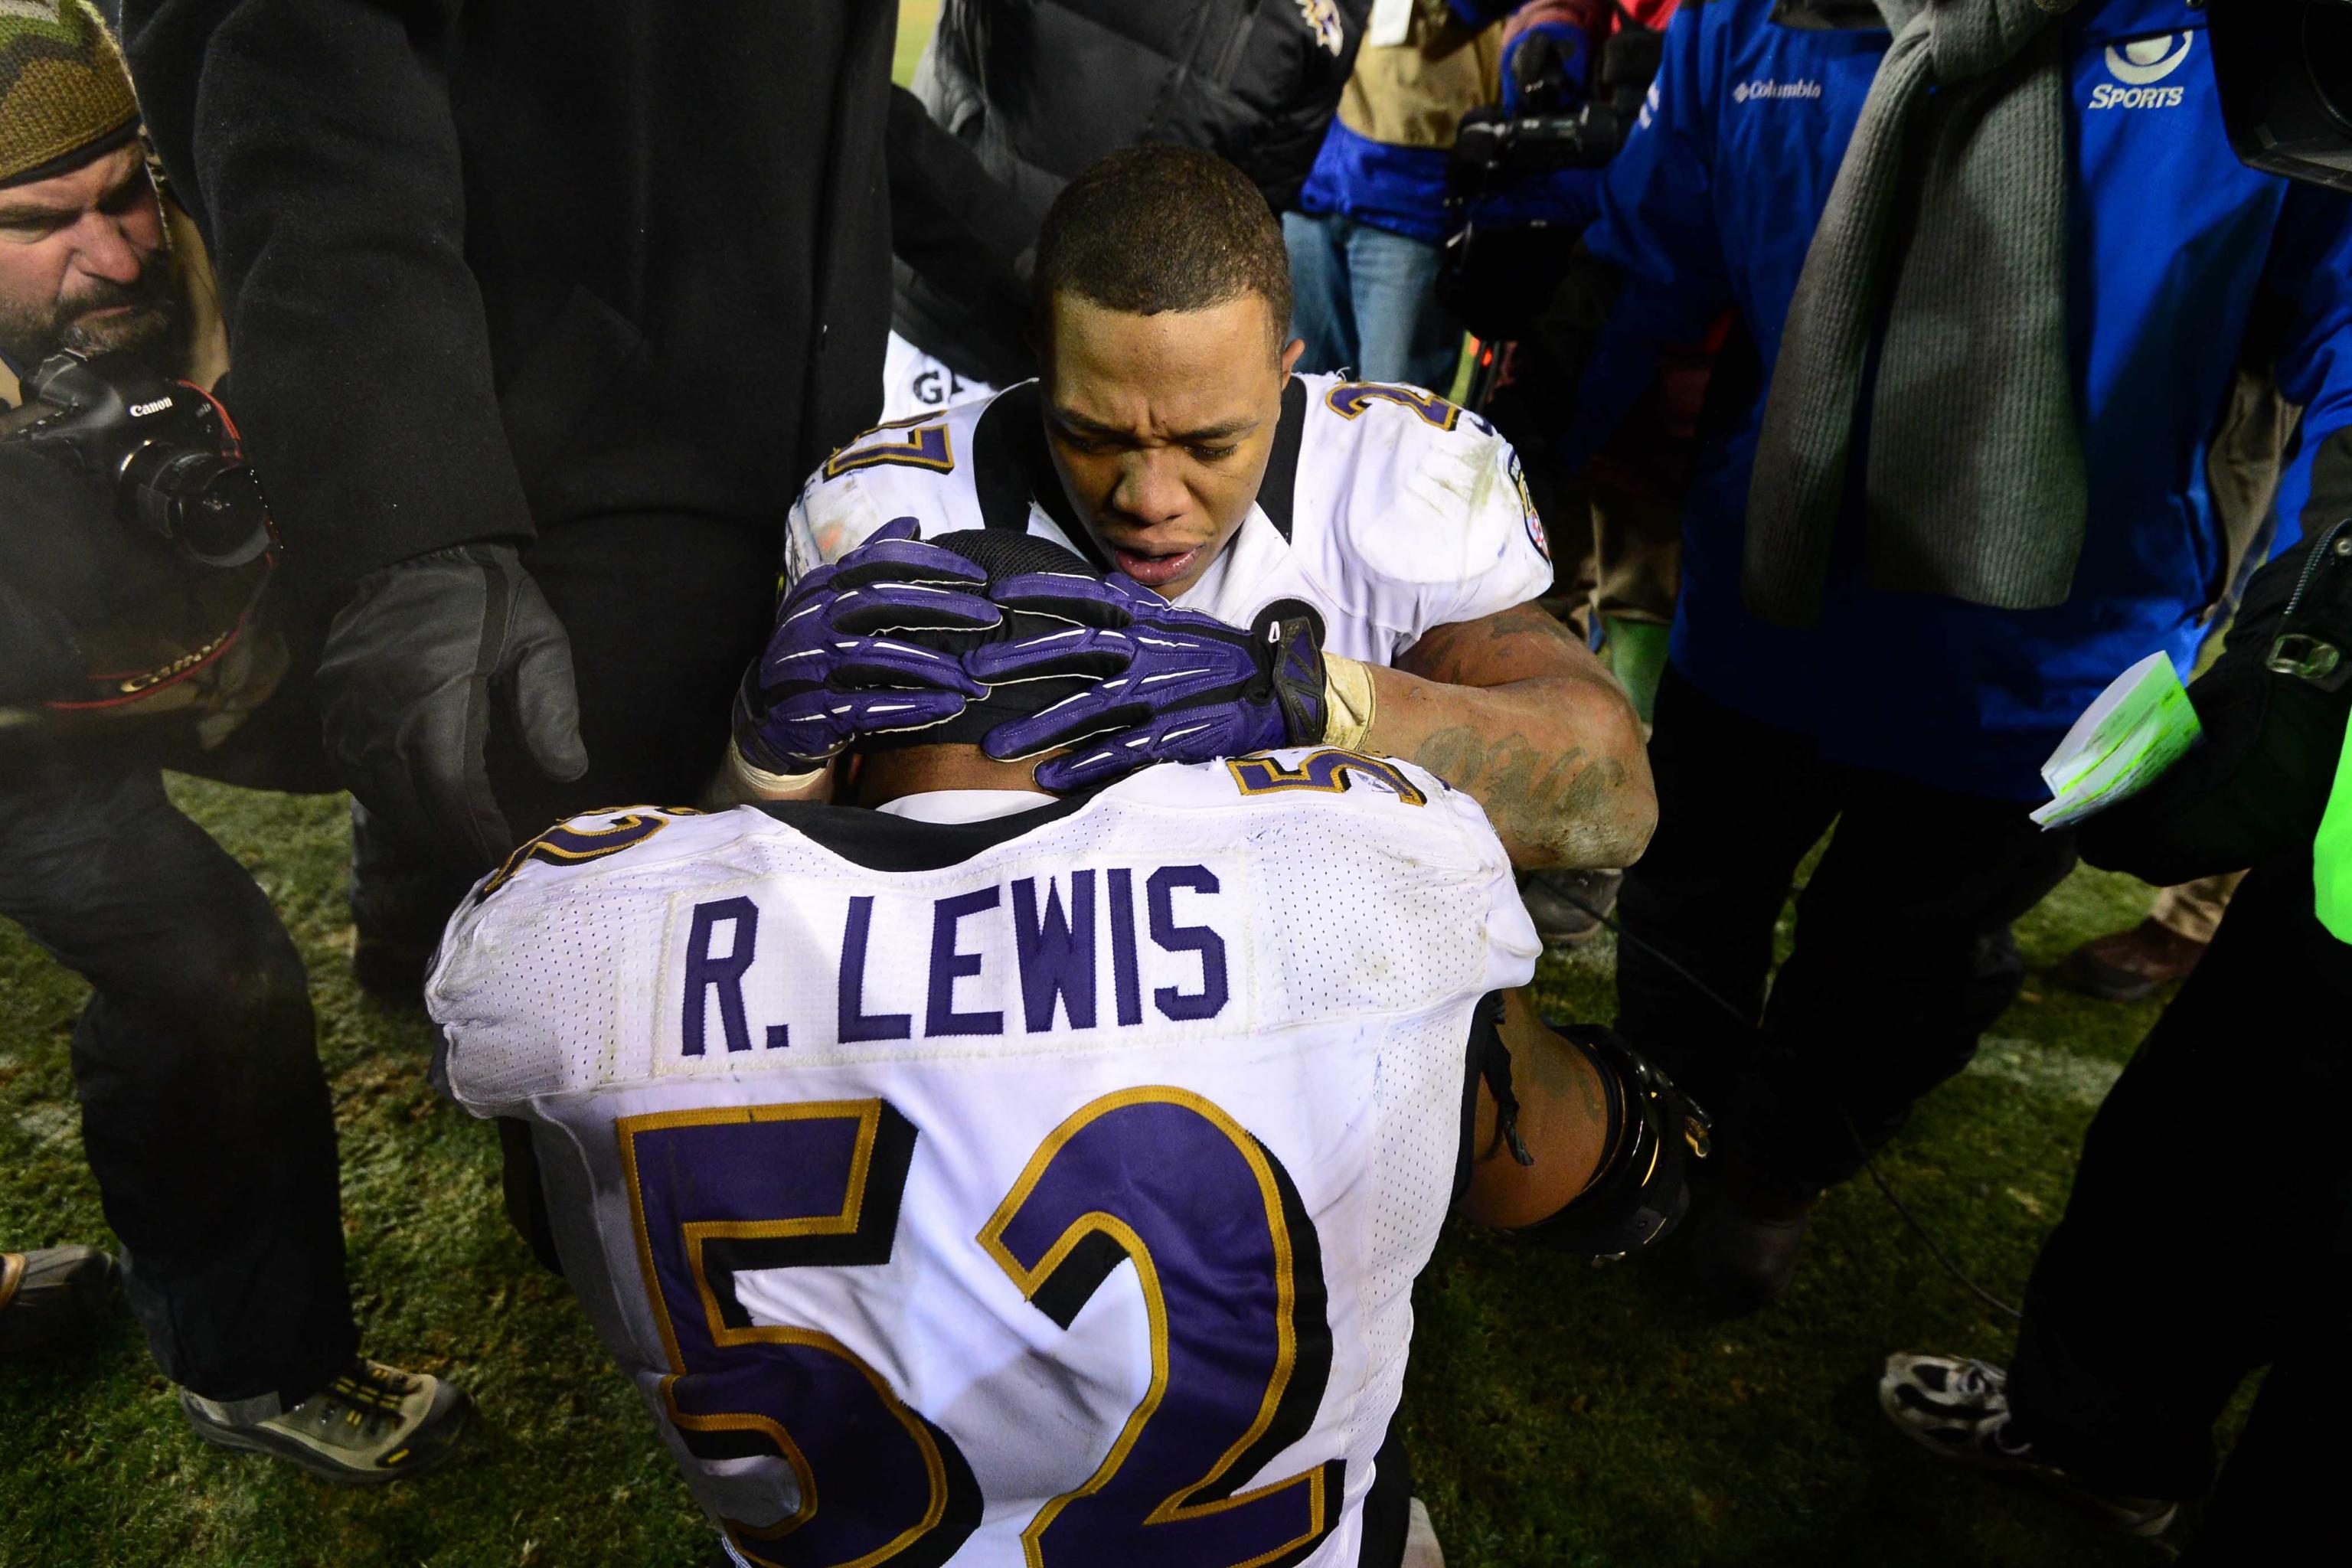
{"label": "purple glove on the right, with black wrist strap, over teammate's head", "polygon": [[1096,677],[981,741],[1009,762],[1101,736],[1040,766],[1047,790],[1080,790],[1148,762],[1209,762],[1324,736],[1322,616],[1298,599],[1268,604],[1244,632],[1176,609],[1122,574],[1033,571],[997,583],[990,597],[1070,628],[976,649],[964,658],[971,675],[990,686]]}

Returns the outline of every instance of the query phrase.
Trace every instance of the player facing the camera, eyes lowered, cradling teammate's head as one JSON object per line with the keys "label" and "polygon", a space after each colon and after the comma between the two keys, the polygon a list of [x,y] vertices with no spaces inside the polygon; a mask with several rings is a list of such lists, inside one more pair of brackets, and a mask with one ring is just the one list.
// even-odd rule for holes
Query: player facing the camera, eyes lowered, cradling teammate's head
{"label": "player facing the camera, eyes lowered, cradling teammate's head", "polygon": [[[1327,689],[1256,745],[1418,762],[1486,809],[1524,870],[1639,856],[1656,818],[1639,719],[1534,604],[1550,550],[1510,442],[1421,388],[1291,374],[1282,228],[1240,169],[1176,146],[1112,153],[1047,216],[1035,289],[1042,378],[833,454],[793,505],[788,581],[910,517],[922,534],[1051,538],[1117,588],[1235,628],[1303,604]],[[1054,609],[1145,635],[1138,597]],[[1103,639],[1084,668],[1117,672]],[[1054,670],[1040,656],[1023,672]],[[748,795],[828,788],[826,745],[851,729],[811,741],[771,719],[804,693],[774,658],[746,677]],[[1136,684],[1117,712],[1080,708],[1025,738],[1091,733],[1124,764],[1200,762],[1232,738],[1162,722],[1152,693]],[[917,708],[896,722],[934,722],[936,705]]]}

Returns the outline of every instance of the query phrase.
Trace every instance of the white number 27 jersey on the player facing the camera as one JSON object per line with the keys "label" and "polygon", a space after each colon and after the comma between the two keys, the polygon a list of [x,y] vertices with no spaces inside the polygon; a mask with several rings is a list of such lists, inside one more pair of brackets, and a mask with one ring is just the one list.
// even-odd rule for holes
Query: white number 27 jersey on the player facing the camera
{"label": "white number 27 jersey on the player facing the camera", "polygon": [[[835,451],[793,503],[786,574],[894,517],[924,534],[1025,529],[1108,571],[1054,473],[1037,400],[1023,381]],[[1494,425],[1414,386],[1291,376],[1256,505],[1176,604],[1249,625],[1275,599],[1305,599],[1327,651],[1392,665],[1432,625],[1550,585],[1543,522]]]}

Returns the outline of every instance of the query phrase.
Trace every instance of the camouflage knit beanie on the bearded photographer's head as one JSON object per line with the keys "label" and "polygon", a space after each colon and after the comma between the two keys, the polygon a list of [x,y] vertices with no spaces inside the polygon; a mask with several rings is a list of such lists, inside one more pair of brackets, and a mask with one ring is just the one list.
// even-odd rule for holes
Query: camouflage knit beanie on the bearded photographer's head
{"label": "camouflage knit beanie on the bearded photographer's head", "polygon": [[64,174],[136,134],[122,49],[85,0],[0,0],[0,186]]}

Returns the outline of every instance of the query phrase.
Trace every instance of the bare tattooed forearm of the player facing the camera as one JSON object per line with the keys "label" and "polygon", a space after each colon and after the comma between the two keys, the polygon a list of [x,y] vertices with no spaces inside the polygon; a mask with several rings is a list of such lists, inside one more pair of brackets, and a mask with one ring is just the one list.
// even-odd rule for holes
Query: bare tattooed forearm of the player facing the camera
{"label": "bare tattooed forearm of the player facing the camera", "polygon": [[1658,825],[1642,722],[1569,628],[1534,604],[1439,625],[1376,696],[1364,750],[1486,806],[1519,870],[1632,865]]}

